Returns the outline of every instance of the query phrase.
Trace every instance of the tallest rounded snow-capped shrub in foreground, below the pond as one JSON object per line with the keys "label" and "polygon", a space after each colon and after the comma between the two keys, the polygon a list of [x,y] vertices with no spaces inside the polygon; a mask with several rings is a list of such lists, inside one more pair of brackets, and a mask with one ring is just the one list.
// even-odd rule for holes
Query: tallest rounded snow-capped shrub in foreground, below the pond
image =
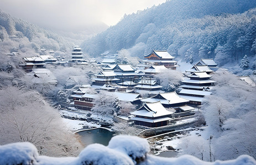
{"label": "tallest rounded snow-capped shrub in foreground, below the pond", "polygon": [[148,141],[137,136],[114,136],[109,141],[108,147],[126,153],[134,163],[144,161],[149,152]]}

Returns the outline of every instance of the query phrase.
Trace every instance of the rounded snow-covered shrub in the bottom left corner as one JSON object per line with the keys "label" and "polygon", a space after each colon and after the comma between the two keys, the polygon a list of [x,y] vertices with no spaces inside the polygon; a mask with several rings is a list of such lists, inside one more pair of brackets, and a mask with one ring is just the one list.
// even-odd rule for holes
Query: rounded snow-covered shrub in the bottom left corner
{"label": "rounded snow-covered shrub in the bottom left corner", "polygon": [[30,142],[18,142],[0,147],[1,165],[38,164],[38,151]]}

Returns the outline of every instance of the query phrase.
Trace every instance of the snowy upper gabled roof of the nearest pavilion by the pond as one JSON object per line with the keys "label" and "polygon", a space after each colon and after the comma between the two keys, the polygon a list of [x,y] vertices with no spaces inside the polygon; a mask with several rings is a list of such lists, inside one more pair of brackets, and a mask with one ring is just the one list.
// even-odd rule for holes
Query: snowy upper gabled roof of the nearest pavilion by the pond
{"label": "snowy upper gabled roof of the nearest pavilion by the pond", "polygon": [[160,101],[154,103],[145,103],[142,107],[137,109],[137,111],[131,112],[135,116],[144,117],[161,117],[172,114],[172,112],[167,111]]}

